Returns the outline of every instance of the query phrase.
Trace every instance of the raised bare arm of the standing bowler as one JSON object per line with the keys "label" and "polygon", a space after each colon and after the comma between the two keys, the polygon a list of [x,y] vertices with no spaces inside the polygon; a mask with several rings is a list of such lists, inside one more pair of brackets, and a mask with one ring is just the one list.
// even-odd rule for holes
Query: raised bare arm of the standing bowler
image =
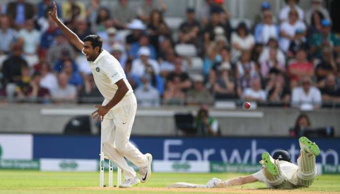
{"label": "raised bare arm of the standing bowler", "polygon": [[68,29],[68,27],[66,27],[65,24],[63,24],[63,22],[60,21],[60,19],[58,18],[58,14],[57,14],[57,6],[55,5],[54,1],[53,1],[53,11],[49,12],[49,15],[52,17],[54,22],[58,25],[60,30],[65,34],[68,41],[72,45],[74,45],[77,49],[82,50],[84,46],[84,42],[80,40],[79,37],[74,32]]}

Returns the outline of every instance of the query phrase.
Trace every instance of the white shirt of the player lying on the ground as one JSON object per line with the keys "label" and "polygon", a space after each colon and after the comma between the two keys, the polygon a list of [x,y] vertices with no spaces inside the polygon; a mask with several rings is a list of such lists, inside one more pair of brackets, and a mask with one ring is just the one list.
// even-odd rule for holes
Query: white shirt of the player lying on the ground
{"label": "white shirt of the player lying on the ground", "polygon": [[[296,180],[294,180],[294,175],[295,173],[297,173],[299,167],[296,164],[287,161],[279,161],[279,164],[281,171],[286,176],[287,180],[292,184],[296,184]],[[252,176],[260,182],[265,182],[266,177],[263,174],[263,169],[254,173]]]}

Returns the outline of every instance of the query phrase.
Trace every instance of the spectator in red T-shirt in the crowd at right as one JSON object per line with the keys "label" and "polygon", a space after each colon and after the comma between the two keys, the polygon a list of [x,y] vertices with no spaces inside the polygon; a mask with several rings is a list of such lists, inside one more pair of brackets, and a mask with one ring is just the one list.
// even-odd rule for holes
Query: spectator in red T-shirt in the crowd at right
{"label": "spectator in red T-shirt in the crowd at right", "polygon": [[306,57],[306,50],[301,48],[296,51],[295,59],[289,62],[288,71],[291,88],[297,86],[304,76],[312,77],[314,75],[314,65]]}

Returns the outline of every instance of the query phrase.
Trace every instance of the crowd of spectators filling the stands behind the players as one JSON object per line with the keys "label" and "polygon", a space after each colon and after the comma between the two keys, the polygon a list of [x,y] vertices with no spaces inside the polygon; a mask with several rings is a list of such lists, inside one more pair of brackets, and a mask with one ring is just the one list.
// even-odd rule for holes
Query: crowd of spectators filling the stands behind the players
{"label": "crowd of spectators filling the stands behind the players", "polygon": [[[340,39],[322,0],[308,10],[285,0],[279,13],[263,1],[253,25],[240,21],[235,29],[223,0],[188,7],[177,29],[163,16],[163,0],[142,2],[57,2],[58,16],[81,39],[102,37],[140,106],[241,99],[314,109],[340,102]],[[0,4],[2,100],[101,101],[85,56],[49,17],[51,8],[52,0]]]}

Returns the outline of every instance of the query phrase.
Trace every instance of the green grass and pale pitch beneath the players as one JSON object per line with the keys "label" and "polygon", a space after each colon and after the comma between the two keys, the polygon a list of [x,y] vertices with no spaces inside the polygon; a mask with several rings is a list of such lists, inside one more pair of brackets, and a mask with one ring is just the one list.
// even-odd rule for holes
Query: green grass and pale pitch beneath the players
{"label": "green grass and pale pitch beneath the players", "polygon": [[[106,171],[107,172],[107,171]],[[108,173],[105,173],[107,184]],[[192,182],[205,184],[212,177],[228,179],[242,174],[175,174],[153,173],[147,183],[140,183],[134,189],[100,188],[99,172],[38,172],[38,171],[0,171],[0,194],[189,194],[189,193],[267,193],[263,183],[252,183],[242,187],[234,187],[232,190],[169,190],[165,188],[175,182]],[[114,183],[117,180],[114,173]],[[146,188],[147,187],[147,188]],[[163,189],[164,188],[164,189]],[[243,192],[244,191],[244,192]],[[287,193],[340,193],[340,175],[318,176],[310,188],[299,190],[286,190]],[[271,191],[273,193],[273,191]],[[280,191],[284,192],[285,191]],[[276,193],[275,193],[276,194]]]}

